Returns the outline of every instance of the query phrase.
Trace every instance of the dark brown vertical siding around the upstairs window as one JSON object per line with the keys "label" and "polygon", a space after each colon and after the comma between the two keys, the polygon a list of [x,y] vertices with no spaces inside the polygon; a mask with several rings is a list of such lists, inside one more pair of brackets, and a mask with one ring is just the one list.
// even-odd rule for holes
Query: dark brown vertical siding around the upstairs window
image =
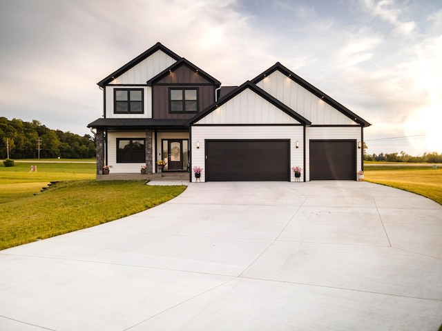
{"label": "dark brown vertical siding around the upstairs window", "polygon": [[198,88],[198,112],[215,101],[215,85],[188,66],[180,66],[152,85],[154,119],[191,119],[195,112],[171,114],[169,88]]}

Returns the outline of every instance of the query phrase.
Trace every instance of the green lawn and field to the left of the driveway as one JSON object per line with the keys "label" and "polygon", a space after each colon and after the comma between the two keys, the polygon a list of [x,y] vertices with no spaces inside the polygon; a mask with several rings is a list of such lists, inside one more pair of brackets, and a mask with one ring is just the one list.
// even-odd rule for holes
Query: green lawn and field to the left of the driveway
{"label": "green lawn and field to the left of the driveway", "polygon": [[[0,250],[88,228],[159,205],[185,186],[95,181],[93,163],[0,165]],[[29,174],[31,164],[37,173]],[[39,192],[49,181],[60,181]]]}

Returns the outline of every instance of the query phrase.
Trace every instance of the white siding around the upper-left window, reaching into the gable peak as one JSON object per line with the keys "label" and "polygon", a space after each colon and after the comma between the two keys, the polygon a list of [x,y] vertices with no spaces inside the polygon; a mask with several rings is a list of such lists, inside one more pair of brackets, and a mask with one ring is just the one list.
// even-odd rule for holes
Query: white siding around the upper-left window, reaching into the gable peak
{"label": "white siding around the upper-left window, reaching into the gable peak", "polygon": [[[175,59],[161,50],[157,50],[133,68],[116,77],[106,86],[106,117],[109,119],[151,119],[152,118],[152,88],[146,86],[146,81],[169,68]],[[116,85],[116,86],[113,86]],[[126,86],[127,85],[127,86]],[[139,87],[134,85],[140,85]],[[114,88],[142,88],[144,98],[143,114],[114,114]]]}

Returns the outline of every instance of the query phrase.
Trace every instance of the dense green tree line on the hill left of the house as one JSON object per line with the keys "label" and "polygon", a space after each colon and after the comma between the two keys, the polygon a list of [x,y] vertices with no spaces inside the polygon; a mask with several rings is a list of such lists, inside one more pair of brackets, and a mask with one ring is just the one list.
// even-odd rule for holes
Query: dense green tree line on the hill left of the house
{"label": "dense green tree line on the hill left of the house", "polygon": [[0,159],[88,159],[95,157],[94,137],[51,130],[39,121],[0,117]]}

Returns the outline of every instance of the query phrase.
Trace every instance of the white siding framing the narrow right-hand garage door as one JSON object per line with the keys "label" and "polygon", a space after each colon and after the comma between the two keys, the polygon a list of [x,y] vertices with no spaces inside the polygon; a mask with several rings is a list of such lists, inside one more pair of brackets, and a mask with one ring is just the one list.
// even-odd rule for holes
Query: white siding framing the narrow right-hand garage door
{"label": "white siding framing the narrow right-hand garage door", "polygon": [[310,140],[355,140],[356,141],[356,171],[362,169],[361,153],[358,141],[361,141],[361,127],[308,127],[305,132],[305,176],[310,180]]}

